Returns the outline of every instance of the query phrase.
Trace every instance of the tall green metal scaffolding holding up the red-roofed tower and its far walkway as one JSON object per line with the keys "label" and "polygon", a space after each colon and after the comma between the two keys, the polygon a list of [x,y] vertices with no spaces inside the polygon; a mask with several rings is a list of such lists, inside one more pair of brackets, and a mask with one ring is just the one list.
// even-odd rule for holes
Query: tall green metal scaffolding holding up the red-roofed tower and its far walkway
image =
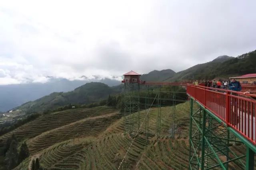
{"label": "tall green metal scaffolding holding up the red-roofed tower and its far walkway", "polygon": [[[132,135],[135,131],[139,130],[139,127],[144,120],[143,128],[140,129],[140,133],[144,133],[148,138],[156,135],[157,138],[162,136],[161,125],[162,125],[162,111],[161,107],[173,106],[172,110],[172,122],[170,122],[171,135],[175,137],[175,115],[176,115],[176,104],[180,102],[186,102],[186,98],[176,98],[176,94],[186,92],[179,92],[179,88],[173,88],[173,91],[163,91],[165,85],[148,85],[140,84],[136,82],[125,82],[124,83],[124,133]],[[179,86],[178,84],[175,86]],[[174,86],[173,86],[174,87]],[[176,91],[177,90],[177,91]],[[162,94],[168,94],[170,97],[164,98]],[[168,103],[168,104],[166,104]],[[147,111],[155,107],[157,109],[157,120],[156,120],[156,133],[153,133],[149,129],[150,114]],[[138,113],[138,114],[134,114]],[[143,119],[143,117],[145,119]]]}

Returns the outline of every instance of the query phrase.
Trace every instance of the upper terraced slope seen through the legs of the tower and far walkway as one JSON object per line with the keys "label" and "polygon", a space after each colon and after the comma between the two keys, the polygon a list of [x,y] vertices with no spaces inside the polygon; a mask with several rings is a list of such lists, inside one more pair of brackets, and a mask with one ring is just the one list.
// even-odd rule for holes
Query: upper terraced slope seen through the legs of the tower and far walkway
{"label": "upper terraced slope seen through the legs of the tower and far walkway", "polygon": [[[186,138],[188,137],[188,129],[189,129],[189,102],[184,104],[176,105],[176,136],[178,138]],[[118,123],[112,125],[107,129],[109,133],[121,133],[124,132],[124,127],[126,131],[129,132],[130,129],[132,131],[138,131],[139,125],[141,125],[144,120],[146,114],[148,113],[148,129],[150,134],[156,135],[156,126],[157,126],[157,109],[151,108],[150,110],[142,110],[140,113],[136,112],[131,115],[126,115],[126,123],[124,126],[124,117],[118,121]],[[195,107],[196,109],[196,107]],[[140,117],[140,124],[139,119]],[[173,119],[173,109],[172,107],[161,107],[161,136],[170,137],[171,136],[171,127],[172,127],[172,119]],[[144,123],[140,129],[140,131],[145,131],[146,123]]]}

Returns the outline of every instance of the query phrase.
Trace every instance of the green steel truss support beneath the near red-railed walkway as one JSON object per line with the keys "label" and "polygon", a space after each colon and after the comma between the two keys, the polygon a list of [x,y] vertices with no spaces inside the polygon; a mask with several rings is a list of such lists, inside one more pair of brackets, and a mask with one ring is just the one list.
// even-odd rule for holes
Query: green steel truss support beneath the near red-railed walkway
{"label": "green steel truss support beneath the near red-railed walkway", "polygon": [[[247,147],[244,153],[237,152],[234,145],[244,146],[230,129],[217,121],[204,107],[190,100],[189,168],[208,169],[253,169],[254,152]],[[198,109],[194,109],[196,106]],[[246,147],[244,147],[246,149]]]}

